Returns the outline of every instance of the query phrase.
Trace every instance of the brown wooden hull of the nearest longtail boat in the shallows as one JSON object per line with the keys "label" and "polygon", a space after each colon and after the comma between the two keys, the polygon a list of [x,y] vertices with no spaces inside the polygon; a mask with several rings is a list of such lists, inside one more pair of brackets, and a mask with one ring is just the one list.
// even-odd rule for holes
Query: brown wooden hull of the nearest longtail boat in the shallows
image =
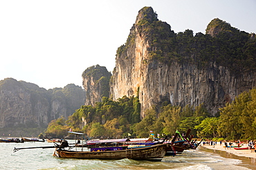
{"label": "brown wooden hull of the nearest longtail boat in the shallows", "polygon": [[67,151],[55,149],[53,156],[59,158],[81,158],[81,159],[124,159],[154,160],[161,161],[165,156],[168,144],[152,145],[136,149],[125,149],[118,151]]}

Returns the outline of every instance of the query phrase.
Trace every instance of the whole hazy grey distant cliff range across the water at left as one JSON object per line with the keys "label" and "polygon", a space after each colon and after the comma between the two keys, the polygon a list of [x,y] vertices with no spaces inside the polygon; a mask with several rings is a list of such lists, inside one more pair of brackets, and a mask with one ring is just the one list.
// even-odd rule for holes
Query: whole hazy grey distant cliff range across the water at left
{"label": "whole hazy grey distant cliff range across the water at left", "polygon": [[5,78],[0,81],[0,128],[47,127],[60,116],[67,118],[84,104],[82,87],[44,89],[33,83]]}

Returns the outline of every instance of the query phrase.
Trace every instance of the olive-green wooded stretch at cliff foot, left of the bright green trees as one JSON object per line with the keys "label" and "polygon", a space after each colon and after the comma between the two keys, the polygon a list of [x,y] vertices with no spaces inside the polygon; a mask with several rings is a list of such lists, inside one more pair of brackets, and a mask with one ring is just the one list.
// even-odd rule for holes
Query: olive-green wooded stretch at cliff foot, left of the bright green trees
{"label": "olive-green wooded stretch at cliff foot, left of the bright green trees", "polygon": [[[185,133],[188,128],[196,135],[196,125],[200,125],[209,113],[200,105],[196,108],[186,106],[181,108],[170,104],[163,104],[161,112],[156,109],[147,110],[145,118],[140,120],[140,103],[137,97],[119,98],[118,101],[102,98],[92,106],[83,105],[64,123],[64,118],[53,120],[46,131],[46,136],[62,138],[66,136],[65,129],[80,131],[89,138],[146,138],[149,131],[156,134],[175,134],[176,129]],[[62,126],[60,126],[62,125]],[[68,126],[66,126],[68,125]]]}

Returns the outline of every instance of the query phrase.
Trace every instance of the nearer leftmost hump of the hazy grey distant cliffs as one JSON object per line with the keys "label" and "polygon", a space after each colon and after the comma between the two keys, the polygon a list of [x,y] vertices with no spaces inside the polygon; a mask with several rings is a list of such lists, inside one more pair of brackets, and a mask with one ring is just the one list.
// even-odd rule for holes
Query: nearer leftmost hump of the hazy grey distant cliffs
{"label": "nearer leftmost hump of the hazy grey distant cliffs", "polygon": [[47,112],[50,108],[44,98],[37,98],[24,83],[6,78],[1,85],[0,127],[12,127],[19,124],[47,125]]}

